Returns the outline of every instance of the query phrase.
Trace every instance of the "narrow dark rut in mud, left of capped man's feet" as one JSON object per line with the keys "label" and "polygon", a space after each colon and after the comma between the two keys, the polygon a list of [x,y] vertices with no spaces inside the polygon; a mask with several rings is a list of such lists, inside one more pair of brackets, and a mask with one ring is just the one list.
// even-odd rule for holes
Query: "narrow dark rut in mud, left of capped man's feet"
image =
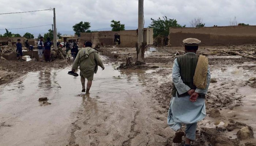
{"label": "narrow dark rut in mud, left of capped man's feet", "polygon": [[133,138],[135,138],[138,134],[140,134],[140,132],[139,131],[135,131],[134,130],[134,127],[135,127],[135,125],[136,125],[136,119],[137,119],[137,116],[139,115],[139,111],[136,111],[135,112],[135,115],[134,115],[134,118],[133,118],[133,120],[132,120],[132,122],[131,122],[131,130],[130,130],[130,134],[128,135],[128,140],[127,141],[124,141],[123,143],[122,143],[122,146],[131,146],[131,141],[132,141],[132,139]]}

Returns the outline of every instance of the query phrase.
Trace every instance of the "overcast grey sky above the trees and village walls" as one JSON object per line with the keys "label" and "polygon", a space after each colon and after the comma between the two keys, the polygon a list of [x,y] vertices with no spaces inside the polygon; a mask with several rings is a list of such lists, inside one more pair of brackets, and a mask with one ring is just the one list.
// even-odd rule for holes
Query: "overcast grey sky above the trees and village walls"
{"label": "overcast grey sky above the trees and village walls", "polygon": [[[125,26],[138,27],[138,0],[1,0],[0,13],[25,12],[56,8],[57,31],[72,31],[80,21],[91,23],[91,30],[110,27],[111,20]],[[228,26],[236,16],[237,22],[256,25],[256,0],[144,0],[145,27],[150,18],[167,16],[190,27],[193,18],[202,18],[205,26]],[[0,29],[53,24],[53,11],[0,15]],[[10,30],[35,36],[46,33],[52,26]],[[4,34],[5,30],[0,30]]]}

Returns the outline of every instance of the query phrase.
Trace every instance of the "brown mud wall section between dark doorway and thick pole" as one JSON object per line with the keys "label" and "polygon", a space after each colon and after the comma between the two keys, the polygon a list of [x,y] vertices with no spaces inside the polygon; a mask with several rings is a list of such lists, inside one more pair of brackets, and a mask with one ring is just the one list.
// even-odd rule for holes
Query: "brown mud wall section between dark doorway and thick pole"
{"label": "brown mud wall section between dark doorway and thick pole", "polygon": [[135,47],[138,42],[137,30],[120,31],[120,42],[121,47]]}

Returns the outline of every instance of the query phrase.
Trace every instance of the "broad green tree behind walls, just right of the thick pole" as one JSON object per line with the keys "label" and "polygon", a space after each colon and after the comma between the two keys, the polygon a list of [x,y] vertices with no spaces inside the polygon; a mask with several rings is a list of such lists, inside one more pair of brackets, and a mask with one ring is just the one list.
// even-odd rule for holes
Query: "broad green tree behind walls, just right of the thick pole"
{"label": "broad green tree behind walls, just right of the thick pole", "polygon": [[169,35],[170,27],[186,27],[185,25],[181,26],[178,24],[176,19],[169,19],[166,16],[163,17],[163,20],[161,18],[158,18],[157,20],[151,18],[151,20],[152,22],[149,27],[154,30],[154,38],[158,35],[167,37]]}

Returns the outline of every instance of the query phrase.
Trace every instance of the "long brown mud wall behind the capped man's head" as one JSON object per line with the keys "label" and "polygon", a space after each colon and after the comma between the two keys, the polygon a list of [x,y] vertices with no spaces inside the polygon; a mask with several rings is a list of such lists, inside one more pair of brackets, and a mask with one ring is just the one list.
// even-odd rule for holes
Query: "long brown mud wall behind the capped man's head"
{"label": "long brown mud wall behind the capped man's head", "polygon": [[201,40],[201,46],[246,45],[256,43],[256,26],[170,28],[169,45],[181,46],[185,38]]}

